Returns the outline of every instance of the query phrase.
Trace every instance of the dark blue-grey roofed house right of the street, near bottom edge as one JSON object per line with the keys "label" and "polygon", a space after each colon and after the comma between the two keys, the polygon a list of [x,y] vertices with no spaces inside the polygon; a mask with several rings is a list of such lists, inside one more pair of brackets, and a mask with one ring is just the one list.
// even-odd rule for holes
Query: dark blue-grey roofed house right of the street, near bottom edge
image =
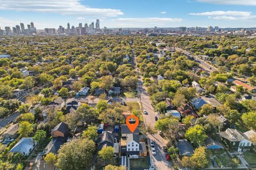
{"label": "dark blue-grey roofed house right of the street, near bottom edge", "polygon": [[194,154],[194,148],[187,140],[179,140],[177,143],[180,156],[191,156]]}

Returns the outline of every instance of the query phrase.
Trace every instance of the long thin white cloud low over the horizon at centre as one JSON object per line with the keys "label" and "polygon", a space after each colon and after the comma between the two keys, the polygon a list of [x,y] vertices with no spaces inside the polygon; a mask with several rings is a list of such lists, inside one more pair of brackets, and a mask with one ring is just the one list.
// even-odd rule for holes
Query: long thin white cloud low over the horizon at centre
{"label": "long thin white cloud low over the horizon at centre", "polygon": [[155,23],[167,23],[167,22],[181,22],[181,18],[118,18],[112,21],[122,21],[122,22],[155,22]]}

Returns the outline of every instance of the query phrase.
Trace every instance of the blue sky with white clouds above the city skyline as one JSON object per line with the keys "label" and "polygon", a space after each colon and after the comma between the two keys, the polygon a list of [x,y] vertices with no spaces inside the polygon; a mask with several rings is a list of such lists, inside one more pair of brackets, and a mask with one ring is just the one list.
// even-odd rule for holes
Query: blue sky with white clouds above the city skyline
{"label": "blue sky with white clouds above the city skyline", "polygon": [[256,0],[0,0],[0,27],[256,27]]}

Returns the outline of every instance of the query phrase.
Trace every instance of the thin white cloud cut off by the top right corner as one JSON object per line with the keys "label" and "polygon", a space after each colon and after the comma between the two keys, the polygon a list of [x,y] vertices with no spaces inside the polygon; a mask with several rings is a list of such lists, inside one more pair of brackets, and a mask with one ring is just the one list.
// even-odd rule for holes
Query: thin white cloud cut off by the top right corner
{"label": "thin white cloud cut off by the top right corner", "polygon": [[223,4],[223,5],[246,5],[246,6],[256,5],[255,0],[197,0],[197,2]]}

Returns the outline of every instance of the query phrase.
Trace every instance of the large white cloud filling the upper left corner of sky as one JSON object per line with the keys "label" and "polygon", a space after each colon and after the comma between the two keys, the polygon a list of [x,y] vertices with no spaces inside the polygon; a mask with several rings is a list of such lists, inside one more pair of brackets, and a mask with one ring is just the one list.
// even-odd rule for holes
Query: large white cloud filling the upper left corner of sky
{"label": "large white cloud filling the upper left corner of sky", "polygon": [[124,13],[111,8],[92,8],[80,0],[0,0],[0,10],[51,12],[63,15],[118,16]]}

